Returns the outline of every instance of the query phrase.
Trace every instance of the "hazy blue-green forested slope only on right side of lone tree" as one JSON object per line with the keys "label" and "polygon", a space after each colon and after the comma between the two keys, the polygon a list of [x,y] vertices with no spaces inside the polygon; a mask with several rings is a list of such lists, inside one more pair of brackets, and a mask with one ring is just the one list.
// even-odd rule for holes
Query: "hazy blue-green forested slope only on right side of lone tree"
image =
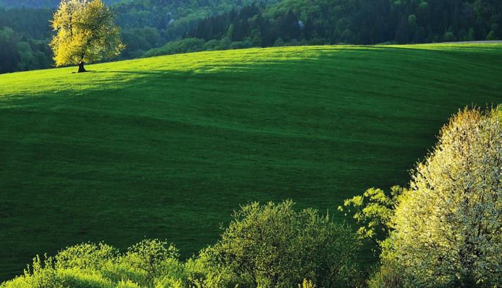
{"label": "hazy blue-green forested slope only on right side of lone tree", "polygon": [[127,50],[123,58],[144,56],[144,52],[178,40],[205,18],[261,3],[271,6],[280,0],[134,0],[113,5],[123,30]]}

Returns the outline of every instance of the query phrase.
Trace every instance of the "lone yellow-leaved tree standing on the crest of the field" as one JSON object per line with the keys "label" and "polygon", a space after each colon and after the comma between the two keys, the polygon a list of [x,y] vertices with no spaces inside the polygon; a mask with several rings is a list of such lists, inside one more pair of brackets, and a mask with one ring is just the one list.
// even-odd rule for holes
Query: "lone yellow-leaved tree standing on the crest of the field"
{"label": "lone yellow-leaved tree standing on the crest of the field", "polygon": [[118,56],[125,48],[113,13],[101,0],[63,0],[51,21],[57,35],[52,38],[56,66],[78,65]]}

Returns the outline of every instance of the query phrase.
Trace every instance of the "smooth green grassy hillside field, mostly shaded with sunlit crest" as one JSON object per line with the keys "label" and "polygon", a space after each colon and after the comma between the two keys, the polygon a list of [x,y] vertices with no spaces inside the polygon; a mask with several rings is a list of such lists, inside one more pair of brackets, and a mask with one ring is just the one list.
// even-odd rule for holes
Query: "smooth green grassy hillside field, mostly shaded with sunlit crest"
{"label": "smooth green grassy hillside field, mostly shaded with sunlit crest", "polygon": [[451,113],[502,101],[502,44],[310,46],[0,75],[0,280],[37,253],[167,238],[239,204],[335,213],[406,184]]}

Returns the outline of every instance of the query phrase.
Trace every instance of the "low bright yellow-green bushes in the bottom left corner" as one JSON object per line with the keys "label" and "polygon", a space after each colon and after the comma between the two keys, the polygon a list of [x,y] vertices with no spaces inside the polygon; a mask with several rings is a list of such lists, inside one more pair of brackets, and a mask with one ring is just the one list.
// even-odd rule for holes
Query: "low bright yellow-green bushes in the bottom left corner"
{"label": "low bright yellow-green bushes in the bottom left corner", "polygon": [[58,252],[42,262],[35,257],[23,276],[1,288],[137,288],[186,287],[183,265],[175,246],[145,239],[127,253],[107,244],[83,243]]}

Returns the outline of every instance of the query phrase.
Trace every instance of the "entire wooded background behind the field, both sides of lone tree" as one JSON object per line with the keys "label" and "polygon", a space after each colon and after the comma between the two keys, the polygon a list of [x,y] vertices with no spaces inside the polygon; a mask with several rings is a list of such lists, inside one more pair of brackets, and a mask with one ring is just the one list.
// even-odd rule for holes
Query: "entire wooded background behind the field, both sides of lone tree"
{"label": "entire wooded background behind the field, both sides of lone tree", "polygon": [[[108,1],[121,58],[251,46],[502,39],[498,0]],[[0,73],[50,68],[57,1],[0,1]]]}

